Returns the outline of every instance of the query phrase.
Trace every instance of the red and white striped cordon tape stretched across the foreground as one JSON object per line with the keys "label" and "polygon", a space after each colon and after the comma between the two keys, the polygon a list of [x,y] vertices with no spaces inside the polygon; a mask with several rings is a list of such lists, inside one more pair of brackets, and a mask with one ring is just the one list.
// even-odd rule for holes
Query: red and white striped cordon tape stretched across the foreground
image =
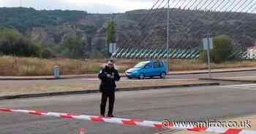
{"label": "red and white striped cordon tape stretched across the foreground", "polygon": [[[154,122],[154,121],[140,120],[140,119],[98,117],[98,116],[89,116],[89,115],[82,115],[82,114],[56,113],[56,112],[48,112],[48,111],[31,111],[31,110],[20,110],[20,109],[10,109],[10,108],[0,108],[0,111],[26,113],[26,114],[33,114],[37,116],[59,117],[63,119],[89,120],[91,122],[109,122],[109,123],[116,123],[121,125],[136,125],[136,126],[143,126],[143,127],[164,128],[162,125],[162,122]],[[217,127],[189,127],[188,128],[188,127],[174,127],[172,125],[170,125],[168,128],[178,129],[178,130],[223,133],[223,134],[256,134],[256,131],[242,130],[240,128],[217,128]]]}

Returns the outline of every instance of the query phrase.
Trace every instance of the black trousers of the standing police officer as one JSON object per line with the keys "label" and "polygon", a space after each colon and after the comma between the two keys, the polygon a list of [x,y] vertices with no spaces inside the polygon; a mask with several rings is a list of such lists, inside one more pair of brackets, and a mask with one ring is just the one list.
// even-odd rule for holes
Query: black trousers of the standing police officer
{"label": "black trousers of the standing police officer", "polygon": [[108,100],[108,116],[113,115],[115,102],[115,92],[102,92],[102,102],[100,104],[100,114],[105,115],[106,103]]}

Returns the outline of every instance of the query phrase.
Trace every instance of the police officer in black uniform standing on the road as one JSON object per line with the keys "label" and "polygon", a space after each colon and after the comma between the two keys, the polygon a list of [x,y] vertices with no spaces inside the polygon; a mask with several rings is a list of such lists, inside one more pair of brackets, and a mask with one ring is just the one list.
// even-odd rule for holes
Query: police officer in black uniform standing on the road
{"label": "police officer in black uniform standing on the road", "polygon": [[114,68],[113,60],[108,60],[107,66],[99,72],[99,79],[101,80],[99,91],[102,92],[100,114],[102,117],[105,117],[105,107],[108,100],[108,117],[114,117],[113,106],[115,102],[116,82],[120,80],[120,76]]}

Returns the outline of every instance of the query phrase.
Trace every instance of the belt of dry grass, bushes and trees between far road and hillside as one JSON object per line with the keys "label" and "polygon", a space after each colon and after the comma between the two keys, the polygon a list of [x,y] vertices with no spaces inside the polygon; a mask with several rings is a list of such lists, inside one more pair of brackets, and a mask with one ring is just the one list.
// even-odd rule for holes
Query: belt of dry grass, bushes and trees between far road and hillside
{"label": "belt of dry grass, bushes and trees between far road and hillside", "polygon": [[[53,75],[53,66],[59,66],[61,75],[93,74],[99,72],[105,58],[109,58],[108,45],[105,50],[88,51],[86,36],[70,35],[56,45],[32,42],[29,37],[12,28],[0,28],[0,76],[47,76]],[[106,44],[116,42],[115,23],[108,24]],[[211,68],[236,68],[256,66],[250,60],[238,60],[229,57],[233,51],[233,39],[230,36],[214,37],[214,49],[211,50]],[[90,49],[89,49],[90,50]],[[7,55],[7,56],[5,56]],[[140,60],[117,60],[120,72],[135,66]],[[189,71],[206,69],[206,52],[199,59],[170,60],[170,71]]]}

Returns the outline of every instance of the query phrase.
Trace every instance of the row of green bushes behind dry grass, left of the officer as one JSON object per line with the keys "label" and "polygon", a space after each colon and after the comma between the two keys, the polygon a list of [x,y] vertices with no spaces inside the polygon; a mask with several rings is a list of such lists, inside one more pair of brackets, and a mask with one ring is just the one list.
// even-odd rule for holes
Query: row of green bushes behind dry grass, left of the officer
{"label": "row of green bushes behind dry grass, left of the officer", "polygon": [[69,35],[59,44],[43,44],[31,41],[13,28],[0,28],[0,55],[34,58],[105,58],[108,50],[89,49],[87,37],[83,34]]}

